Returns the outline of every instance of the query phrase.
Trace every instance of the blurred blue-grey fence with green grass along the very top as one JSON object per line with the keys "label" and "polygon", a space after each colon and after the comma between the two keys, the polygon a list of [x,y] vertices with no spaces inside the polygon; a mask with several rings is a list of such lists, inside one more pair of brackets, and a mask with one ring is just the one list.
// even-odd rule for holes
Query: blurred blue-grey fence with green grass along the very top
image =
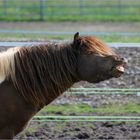
{"label": "blurred blue-grey fence with green grass along the very top", "polygon": [[140,20],[139,0],[0,0],[0,20]]}

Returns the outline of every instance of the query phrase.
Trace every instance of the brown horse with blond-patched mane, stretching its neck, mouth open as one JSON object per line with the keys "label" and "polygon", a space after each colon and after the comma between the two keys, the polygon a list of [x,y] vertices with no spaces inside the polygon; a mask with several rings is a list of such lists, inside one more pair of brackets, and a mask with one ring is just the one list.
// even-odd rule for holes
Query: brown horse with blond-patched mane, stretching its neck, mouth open
{"label": "brown horse with blond-patched mane, stretching its neck, mouth open", "polygon": [[125,61],[101,40],[15,47],[0,53],[0,138],[13,138],[75,82],[97,83],[124,73]]}

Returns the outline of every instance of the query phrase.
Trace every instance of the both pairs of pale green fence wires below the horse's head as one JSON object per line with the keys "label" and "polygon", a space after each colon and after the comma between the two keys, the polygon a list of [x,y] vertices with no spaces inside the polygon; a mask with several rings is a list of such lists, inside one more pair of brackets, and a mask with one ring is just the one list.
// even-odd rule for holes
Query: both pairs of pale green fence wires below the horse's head
{"label": "both pairs of pale green fence wires below the horse's head", "polygon": [[[140,88],[71,88],[65,94],[128,94],[140,95]],[[133,111],[133,110],[132,110]],[[34,122],[140,122],[140,116],[34,116]]]}

